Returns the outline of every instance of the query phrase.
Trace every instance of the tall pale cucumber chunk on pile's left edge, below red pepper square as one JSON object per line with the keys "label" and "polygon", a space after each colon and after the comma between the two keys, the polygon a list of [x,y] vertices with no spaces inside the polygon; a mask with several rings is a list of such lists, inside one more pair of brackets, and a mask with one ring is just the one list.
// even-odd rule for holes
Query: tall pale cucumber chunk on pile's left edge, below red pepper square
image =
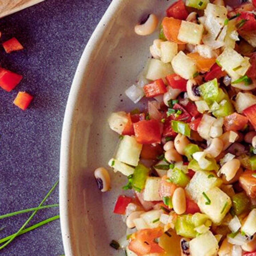
{"label": "tall pale cucumber chunk on pile's left edge, below red pepper square", "polygon": [[142,144],[139,144],[135,137],[125,135],[119,143],[115,158],[120,162],[137,166],[141,150]]}

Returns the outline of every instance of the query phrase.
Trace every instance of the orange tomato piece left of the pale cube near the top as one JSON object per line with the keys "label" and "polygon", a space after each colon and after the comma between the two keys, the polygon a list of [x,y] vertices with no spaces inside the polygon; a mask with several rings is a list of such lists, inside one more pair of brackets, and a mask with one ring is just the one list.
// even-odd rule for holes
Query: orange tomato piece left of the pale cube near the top
{"label": "orange tomato piece left of the pale cube near the top", "polygon": [[177,44],[186,44],[178,39],[178,34],[180,31],[181,20],[174,19],[172,17],[165,17],[162,21],[163,32],[168,41]]}

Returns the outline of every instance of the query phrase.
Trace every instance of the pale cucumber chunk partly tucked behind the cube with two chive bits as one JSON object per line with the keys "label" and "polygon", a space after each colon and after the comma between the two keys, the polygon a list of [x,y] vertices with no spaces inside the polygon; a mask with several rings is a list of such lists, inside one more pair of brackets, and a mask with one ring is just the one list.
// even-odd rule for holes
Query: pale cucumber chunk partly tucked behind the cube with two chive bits
{"label": "pale cucumber chunk partly tucked behind the cube with two chive bits", "polygon": [[214,187],[220,187],[221,184],[222,180],[217,178],[214,173],[208,171],[197,171],[185,190],[187,194],[197,202],[203,191],[208,191]]}

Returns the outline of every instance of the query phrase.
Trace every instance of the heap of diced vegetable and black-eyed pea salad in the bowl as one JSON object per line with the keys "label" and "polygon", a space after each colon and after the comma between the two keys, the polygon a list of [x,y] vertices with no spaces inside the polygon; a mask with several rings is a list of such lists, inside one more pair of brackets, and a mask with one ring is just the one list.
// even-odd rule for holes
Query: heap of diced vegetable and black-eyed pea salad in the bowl
{"label": "heap of diced vegetable and black-eyed pea salad in the bowl", "polygon": [[114,208],[127,233],[112,247],[256,256],[255,50],[256,1],[179,0],[166,10],[152,59],[126,90],[147,107],[108,118],[120,135],[109,166],[127,176]]}

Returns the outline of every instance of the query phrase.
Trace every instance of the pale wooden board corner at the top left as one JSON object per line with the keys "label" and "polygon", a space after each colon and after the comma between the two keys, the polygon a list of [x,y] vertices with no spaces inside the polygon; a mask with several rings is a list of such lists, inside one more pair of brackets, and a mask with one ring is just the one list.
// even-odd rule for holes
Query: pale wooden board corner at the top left
{"label": "pale wooden board corner at the top left", "polygon": [[0,18],[42,1],[44,0],[0,0]]}

